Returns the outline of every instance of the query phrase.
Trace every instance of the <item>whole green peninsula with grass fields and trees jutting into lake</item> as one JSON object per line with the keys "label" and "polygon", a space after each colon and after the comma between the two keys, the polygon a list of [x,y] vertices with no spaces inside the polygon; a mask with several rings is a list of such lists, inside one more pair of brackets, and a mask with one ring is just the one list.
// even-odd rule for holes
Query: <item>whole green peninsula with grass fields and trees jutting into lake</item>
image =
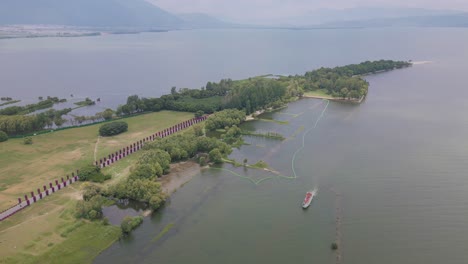
{"label": "whole green peninsula with grass fields and trees jutting into lake", "polygon": [[[132,199],[158,209],[168,195],[165,191],[177,188],[167,184],[171,177],[168,173],[174,166],[187,160],[201,166],[222,163],[231,153],[232,146],[242,144],[244,132],[238,125],[245,120],[246,114],[280,108],[308,93],[320,93],[323,97],[341,101],[360,100],[369,87],[363,79],[365,74],[410,65],[409,62],[381,60],[320,68],[304,75],[225,79],[208,82],[201,89],[173,87],[170,94],[160,98],[130,96],[115,112],[106,110],[106,115],[99,117],[100,122],[118,119],[128,124],[128,131],[125,129],[112,137],[98,136],[100,125],[94,124],[53,133],[49,130],[23,141],[21,136],[43,130],[50,120],[61,118],[61,112],[54,112],[49,119],[44,114],[30,114],[43,108],[43,104],[53,105],[57,99],[4,108],[0,115],[0,131],[5,139],[0,143],[3,150],[0,152],[1,209],[15,205],[19,197],[29,195],[31,188],[42,189],[44,184],[55,182],[76,169],[80,170],[80,180],[86,179],[81,179],[86,173],[86,180],[95,183],[77,182],[62,187],[50,196],[40,196],[34,200],[34,205],[2,221],[0,255],[6,262],[14,263],[41,263],[56,256],[62,256],[63,262],[91,262],[122,232],[129,232],[125,230],[140,223],[139,219],[127,219],[125,230],[110,225],[102,214],[103,206],[115,199]],[[211,113],[215,114],[207,119],[205,114]],[[194,119],[196,125],[185,126]],[[220,138],[205,134],[207,130],[219,129],[225,130]],[[141,151],[115,165],[105,168],[93,165],[97,158],[119,154],[116,150],[123,148],[128,150],[126,147],[132,146],[135,140],[148,139],[155,135],[155,131],[170,131],[170,134],[164,138],[152,137],[153,141],[147,141]],[[244,166],[254,167],[246,163],[247,160]],[[86,252],[80,251],[82,248],[86,248]]]}

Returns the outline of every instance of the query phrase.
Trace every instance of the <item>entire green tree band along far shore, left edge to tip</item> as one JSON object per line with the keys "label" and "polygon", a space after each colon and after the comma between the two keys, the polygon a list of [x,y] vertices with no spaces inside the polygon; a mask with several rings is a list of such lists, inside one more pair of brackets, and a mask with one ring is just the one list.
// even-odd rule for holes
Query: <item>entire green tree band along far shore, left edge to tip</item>
{"label": "entire green tree band along far shore, left edge to tip", "polygon": [[[411,63],[404,61],[366,61],[342,67],[320,68],[306,72],[304,75],[279,78],[255,77],[238,81],[223,79],[218,83],[208,82],[205,87],[200,89],[182,88],[177,90],[176,87],[172,87],[170,94],[160,98],[129,96],[126,104],[117,108],[116,114],[122,116],[160,110],[214,113],[231,108],[250,114],[264,108],[280,107],[293,98],[301,97],[304,91],[318,89],[323,89],[333,97],[357,99],[367,94],[369,86],[362,75],[410,65]],[[42,130],[54,124],[61,127],[66,120],[61,118],[61,115],[57,115],[59,112],[39,114],[35,117],[21,117],[25,113],[51,107],[60,101],[62,100],[57,97],[48,96],[46,100],[38,104],[1,109],[0,130],[9,135],[17,135]],[[5,115],[10,115],[12,118],[6,118]],[[75,123],[82,124],[85,121],[110,120],[112,115],[112,110],[107,109],[91,117],[76,116],[70,122],[73,125]]]}

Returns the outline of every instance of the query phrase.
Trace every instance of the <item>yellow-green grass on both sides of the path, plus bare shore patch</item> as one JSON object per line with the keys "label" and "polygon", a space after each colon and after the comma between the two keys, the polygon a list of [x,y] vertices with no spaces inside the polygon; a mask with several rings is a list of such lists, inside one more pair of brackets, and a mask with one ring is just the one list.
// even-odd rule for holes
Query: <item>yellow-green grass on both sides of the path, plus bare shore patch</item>
{"label": "yellow-green grass on both sides of the path, plus bare shore patch", "polygon": [[[188,120],[192,113],[162,111],[124,119],[129,131],[99,138],[100,125],[62,130],[33,137],[32,145],[21,139],[0,143],[0,209],[17,198],[73,170],[156,131]],[[114,182],[128,174],[139,154],[106,168]],[[73,217],[80,183],[73,184],[0,223],[0,263],[90,263],[115,241],[120,228]],[[62,256],[62,259],[57,256]]]}

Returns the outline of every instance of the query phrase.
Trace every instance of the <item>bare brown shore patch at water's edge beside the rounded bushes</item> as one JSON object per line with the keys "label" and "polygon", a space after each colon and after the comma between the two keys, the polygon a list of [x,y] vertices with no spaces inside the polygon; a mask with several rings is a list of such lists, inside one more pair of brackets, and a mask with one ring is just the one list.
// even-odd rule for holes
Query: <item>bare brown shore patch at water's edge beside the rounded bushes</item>
{"label": "bare brown shore patch at water's edge beside the rounded bushes", "polygon": [[171,164],[171,172],[159,178],[165,193],[171,195],[182,185],[200,173],[201,167],[194,161],[184,161]]}

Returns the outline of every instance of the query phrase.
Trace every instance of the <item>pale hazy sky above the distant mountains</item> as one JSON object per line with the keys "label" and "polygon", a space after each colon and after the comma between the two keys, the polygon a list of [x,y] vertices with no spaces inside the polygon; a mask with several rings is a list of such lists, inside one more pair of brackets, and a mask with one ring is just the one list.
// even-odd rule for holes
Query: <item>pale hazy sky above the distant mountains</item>
{"label": "pale hazy sky above the distant mountains", "polygon": [[174,13],[207,13],[238,22],[261,22],[319,8],[418,7],[468,11],[468,0],[148,0]]}

